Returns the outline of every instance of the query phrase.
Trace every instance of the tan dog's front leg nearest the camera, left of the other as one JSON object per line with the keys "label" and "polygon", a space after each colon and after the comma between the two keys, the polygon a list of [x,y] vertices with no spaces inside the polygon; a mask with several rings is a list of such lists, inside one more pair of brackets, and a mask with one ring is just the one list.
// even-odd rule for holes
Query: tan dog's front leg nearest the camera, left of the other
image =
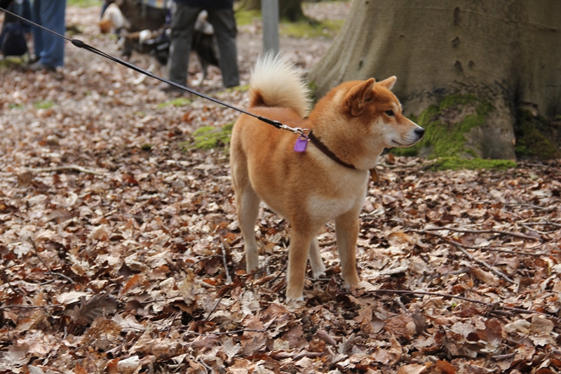
{"label": "tan dog's front leg nearest the camera, left of the other", "polygon": [[290,248],[288,248],[288,286],[286,288],[287,300],[304,300],[304,278],[308,253],[313,239],[313,232],[299,232],[292,228],[290,234]]}

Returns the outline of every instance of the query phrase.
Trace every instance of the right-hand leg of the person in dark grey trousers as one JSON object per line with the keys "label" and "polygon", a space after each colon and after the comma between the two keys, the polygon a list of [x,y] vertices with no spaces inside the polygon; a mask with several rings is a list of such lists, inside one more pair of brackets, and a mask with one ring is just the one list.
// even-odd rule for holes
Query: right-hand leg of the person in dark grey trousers
{"label": "right-hand leg of the person in dark grey trousers", "polygon": [[236,19],[232,9],[212,9],[208,11],[208,22],[215,28],[219,67],[224,87],[239,86],[238,51],[236,48]]}

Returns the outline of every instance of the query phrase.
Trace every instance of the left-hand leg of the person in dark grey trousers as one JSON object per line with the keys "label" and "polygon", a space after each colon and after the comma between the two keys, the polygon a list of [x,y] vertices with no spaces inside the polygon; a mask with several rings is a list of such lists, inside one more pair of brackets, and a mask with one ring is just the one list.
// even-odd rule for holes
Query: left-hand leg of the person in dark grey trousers
{"label": "left-hand leg of the person in dark grey trousers", "polygon": [[189,68],[189,53],[191,53],[191,39],[197,20],[199,8],[191,8],[183,4],[173,3],[171,16],[171,42],[168,60],[170,81],[187,86],[187,69]]}

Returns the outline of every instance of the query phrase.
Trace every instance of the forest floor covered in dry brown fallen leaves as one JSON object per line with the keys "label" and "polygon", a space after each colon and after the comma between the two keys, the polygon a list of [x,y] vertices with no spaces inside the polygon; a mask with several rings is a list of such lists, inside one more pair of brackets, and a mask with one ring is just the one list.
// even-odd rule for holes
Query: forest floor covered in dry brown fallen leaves
{"label": "forest floor covered in dry brown fallen leaves", "polygon": [[[118,55],[98,15],[69,7],[67,23]],[[240,29],[246,85],[262,41],[258,22]],[[280,46],[304,73],[329,44]],[[360,215],[360,285],[343,288],[329,224],[326,278],[286,302],[288,224],[262,208],[263,274],[245,274],[227,147],[189,147],[238,114],[138,77],[69,44],[55,73],[3,62],[0,373],[560,372],[559,161],[430,171],[384,156]],[[248,102],[214,68],[200,89]]]}

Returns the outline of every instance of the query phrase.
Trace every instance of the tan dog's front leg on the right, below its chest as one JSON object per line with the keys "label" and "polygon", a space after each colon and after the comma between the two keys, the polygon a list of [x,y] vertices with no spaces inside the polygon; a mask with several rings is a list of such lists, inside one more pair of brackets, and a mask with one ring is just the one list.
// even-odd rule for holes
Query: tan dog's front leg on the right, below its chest
{"label": "tan dog's front leg on the right, below its chest", "polygon": [[337,251],[341,261],[341,270],[345,286],[350,287],[358,284],[358,273],[356,272],[356,241],[358,239],[359,209],[340,215],[335,219],[335,235],[337,236]]}

